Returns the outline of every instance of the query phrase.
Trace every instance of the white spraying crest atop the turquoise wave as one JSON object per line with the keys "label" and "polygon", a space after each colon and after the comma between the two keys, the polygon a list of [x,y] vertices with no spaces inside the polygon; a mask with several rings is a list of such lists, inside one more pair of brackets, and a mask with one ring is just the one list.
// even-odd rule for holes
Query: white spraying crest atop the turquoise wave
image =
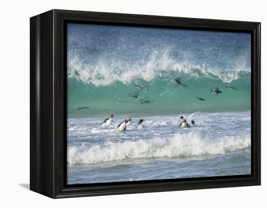
{"label": "white spraying crest atop the turquoise wave", "polygon": [[153,52],[149,58],[134,63],[128,63],[119,58],[102,57],[98,60],[95,64],[88,64],[75,53],[69,54],[68,77],[98,87],[109,86],[117,81],[127,85],[136,79],[150,82],[170,73],[176,75],[184,73],[195,78],[219,79],[224,83],[231,83],[242,75],[250,75],[250,69],[242,66],[235,69],[221,69],[220,67],[207,67],[204,64],[196,65],[186,60],[177,61],[171,58],[168,51]]}

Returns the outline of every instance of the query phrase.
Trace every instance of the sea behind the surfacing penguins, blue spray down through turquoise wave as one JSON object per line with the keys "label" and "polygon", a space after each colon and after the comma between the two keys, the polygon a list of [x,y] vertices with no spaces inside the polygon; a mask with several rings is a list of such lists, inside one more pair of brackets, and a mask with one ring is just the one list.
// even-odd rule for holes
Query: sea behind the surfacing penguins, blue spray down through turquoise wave
{"label": "sea behind the surfacing penguins, blue spray down through turquoise wave", "polygon": [[250,34],[68,24],[68,118],[250,110],[250,58]]}

